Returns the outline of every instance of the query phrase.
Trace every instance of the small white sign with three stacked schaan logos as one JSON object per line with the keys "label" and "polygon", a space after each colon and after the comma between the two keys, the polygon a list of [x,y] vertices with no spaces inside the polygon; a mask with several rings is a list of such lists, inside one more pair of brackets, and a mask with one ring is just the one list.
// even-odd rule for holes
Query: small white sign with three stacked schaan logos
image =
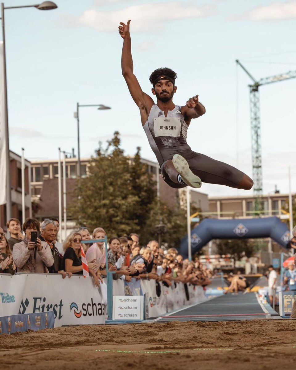
{"label": "small white sign with three stacked schaan logos", "polygon": [[113,296],[113,320],[143,320],[144,296]]}

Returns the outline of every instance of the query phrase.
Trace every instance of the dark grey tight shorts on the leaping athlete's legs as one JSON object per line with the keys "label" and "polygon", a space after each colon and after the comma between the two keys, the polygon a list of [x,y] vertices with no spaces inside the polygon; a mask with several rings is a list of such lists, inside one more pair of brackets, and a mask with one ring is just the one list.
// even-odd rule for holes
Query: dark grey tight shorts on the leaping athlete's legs
{"label": "dark grey tight shorts on the leaping athlete's legs", "polygon": [[[196,153],[192,150],[177,153],[182,155],[188,162],[191,171],[199,176],[202,182],[208,184],[226,185],[236,187],[242,181],[245,175],[239,169],[220,161],[216,161],[201,153]],[[161,165],[161,175],[164,181],[171,186],[171,188],[185,188],[186,185],[176,184],[171,181],[164,169],[165,162]]]}

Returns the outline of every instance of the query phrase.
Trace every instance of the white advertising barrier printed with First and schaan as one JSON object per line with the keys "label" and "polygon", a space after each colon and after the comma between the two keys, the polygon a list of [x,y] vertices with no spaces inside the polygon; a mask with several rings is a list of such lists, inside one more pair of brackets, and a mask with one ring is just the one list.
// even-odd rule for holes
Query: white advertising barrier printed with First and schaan
{"label": "white advertising barrier printed with First and schaan", "polygon": [[1,275],[0,296],[0,316],[53,311],[55,327],[105,323],[107,306],[102,304],[100,288],[94,286],[91,277]]}

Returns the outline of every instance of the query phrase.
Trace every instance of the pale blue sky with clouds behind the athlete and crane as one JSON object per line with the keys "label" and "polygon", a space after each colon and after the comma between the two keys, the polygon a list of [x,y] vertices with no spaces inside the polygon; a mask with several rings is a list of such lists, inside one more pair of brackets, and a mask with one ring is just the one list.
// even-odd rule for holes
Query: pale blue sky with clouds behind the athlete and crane
{"label": "pale blue sky with clouds behind the athlete and crane", "polygon": [[[192,121],[188,144],[252,177],[248,75],[296,70],[296,1],[270,0],[56,0],[58,9],[7,9],[6,54],[10,149],[28,159],[57,158],[58,147],[81,158],[119,131],[125,154],[142,148],[155,161],[137,106],[121,75],[120,21],[131,19],[134,73],[151,93],[155,68],[176,71],[174,102],[199,94],[206,114]],[[4,6],[29,5],[6,0]],[[296,79],[260,87],[263,190],[287,192],[288,166],[296,192]],[[203,184],[209,196],[246,191]]]}

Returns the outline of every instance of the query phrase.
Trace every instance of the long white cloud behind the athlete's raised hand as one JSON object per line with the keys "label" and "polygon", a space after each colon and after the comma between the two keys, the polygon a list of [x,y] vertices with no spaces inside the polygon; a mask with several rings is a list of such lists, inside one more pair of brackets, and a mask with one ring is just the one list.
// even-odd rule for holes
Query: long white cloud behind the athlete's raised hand
{"label": "long white cloud behind the athlete's raised hand", "polygon": [[64,16],[63,23],[68,26],[88,26],[97,31],[114,32],[119,22],[131,19],[132,32],[158,31],[178,19],[194,19],[212,14],[211,6],[197,7],[181,1],[158,4],[140,4],[121,10],[86,10],[81,16]]}

